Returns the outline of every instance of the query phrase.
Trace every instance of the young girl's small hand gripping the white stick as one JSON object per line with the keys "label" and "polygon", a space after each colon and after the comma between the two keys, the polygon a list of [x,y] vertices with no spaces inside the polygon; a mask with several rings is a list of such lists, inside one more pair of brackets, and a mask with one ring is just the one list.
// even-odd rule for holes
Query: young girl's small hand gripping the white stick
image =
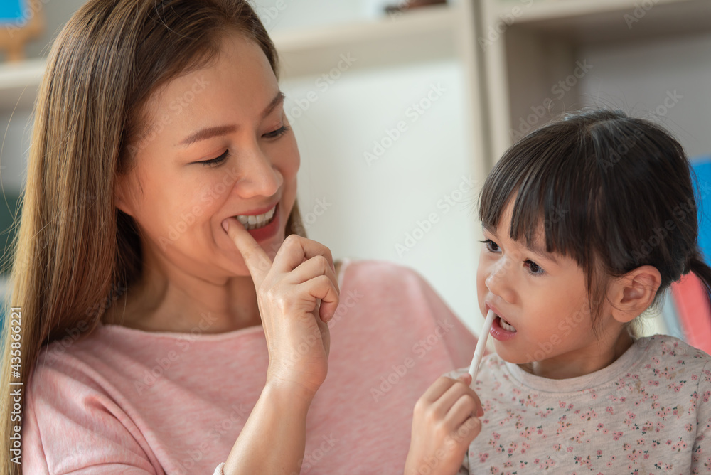
{"label": "young girl's small hand gripping the white stick", "polygon": [[470,383],[468,373],[456,380],[442,376],[417,400],[405,475],[459,471],[469,444],[481,432],[483,410]]}

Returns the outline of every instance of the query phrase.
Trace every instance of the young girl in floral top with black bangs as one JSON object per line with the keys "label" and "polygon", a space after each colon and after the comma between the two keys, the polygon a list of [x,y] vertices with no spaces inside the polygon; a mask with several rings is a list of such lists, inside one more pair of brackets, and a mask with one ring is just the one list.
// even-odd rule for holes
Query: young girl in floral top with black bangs
{"label": "young girl in floral top with black bangs", "polygon": [[711,357],[635,336],[682,275],[711,289],[682,146],[622,112],[574,114],[504,154],[479,213],[496,353],[418,400],[405,473],[711,473]]}

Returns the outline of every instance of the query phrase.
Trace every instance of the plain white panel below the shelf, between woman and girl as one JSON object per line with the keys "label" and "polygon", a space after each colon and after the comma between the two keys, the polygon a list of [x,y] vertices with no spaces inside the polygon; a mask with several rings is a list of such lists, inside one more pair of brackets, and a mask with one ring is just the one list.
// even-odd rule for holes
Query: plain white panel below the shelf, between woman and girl
{"label": "plain white panel below the shelf, between woman and girl", "polygon": [[[324,92],[316,79],[282,83],[287,114],[300,116],[292,121],[309,237],[336,258],[417,269],[466,324],[479,328],[474,201],[481,180],[472,174],[464,140],[461,69],[443,62],[346,71]],[[419,114],[413,104],[437,88],[441,95]],[[306,100],[311,91],[318,100]],[[308,104],[302,115],[299,104]]]}

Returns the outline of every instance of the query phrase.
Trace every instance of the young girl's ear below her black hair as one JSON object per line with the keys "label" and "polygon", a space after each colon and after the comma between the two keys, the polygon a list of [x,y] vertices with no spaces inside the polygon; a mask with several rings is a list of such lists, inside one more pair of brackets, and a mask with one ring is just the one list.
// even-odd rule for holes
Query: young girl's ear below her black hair
{"label": "young girl's ear below her black hair", "polygon": [[614,282],[609,294],[614,319],[624,324],[642,314],[654,301],[661,281],[656,267],[643,265]]}

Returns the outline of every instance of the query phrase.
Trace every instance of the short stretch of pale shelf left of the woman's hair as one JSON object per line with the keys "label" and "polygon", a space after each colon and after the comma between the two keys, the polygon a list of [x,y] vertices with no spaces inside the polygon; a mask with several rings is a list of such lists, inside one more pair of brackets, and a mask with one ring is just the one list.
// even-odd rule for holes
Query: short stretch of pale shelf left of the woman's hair
{"label": "short stretch of pale shelf left of the woman's hair", "polygon": [[31,108],[44,73],[44,58],[0,64],[0,110]]}

